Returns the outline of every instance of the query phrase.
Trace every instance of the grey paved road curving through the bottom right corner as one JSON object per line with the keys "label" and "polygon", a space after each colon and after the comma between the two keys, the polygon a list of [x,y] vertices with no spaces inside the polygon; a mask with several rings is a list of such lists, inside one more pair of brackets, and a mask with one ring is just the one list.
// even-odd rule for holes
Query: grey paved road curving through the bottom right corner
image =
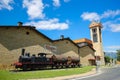
{"label": "grey paved road curving through the bottom right corner", "polygon": [[101,74],[69,80],[120,80],[120,67],[105,68]]}

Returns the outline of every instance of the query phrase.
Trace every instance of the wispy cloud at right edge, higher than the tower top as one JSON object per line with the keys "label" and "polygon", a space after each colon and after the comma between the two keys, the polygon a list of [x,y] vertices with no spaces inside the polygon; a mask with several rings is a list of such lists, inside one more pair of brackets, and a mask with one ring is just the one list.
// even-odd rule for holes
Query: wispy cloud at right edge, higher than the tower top
{"label": "wispy cloud at right edge, higher than the tower top", "polygon": [[120,10],[107,10],[101,15],[102,18],[115,17],[120,15]]}

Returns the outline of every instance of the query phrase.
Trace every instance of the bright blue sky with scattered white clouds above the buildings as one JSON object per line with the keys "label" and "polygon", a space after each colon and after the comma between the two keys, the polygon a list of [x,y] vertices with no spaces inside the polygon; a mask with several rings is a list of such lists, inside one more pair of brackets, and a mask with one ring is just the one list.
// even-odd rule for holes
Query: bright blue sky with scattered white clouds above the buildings
{"label": "bright blue sky with scattered white clouds above the buildings", "polygon": [[103,50],[120,49],[120,0],[0,0],[0,25],[23,22],[52,40],[90,39],[92,21],[103,25]]}

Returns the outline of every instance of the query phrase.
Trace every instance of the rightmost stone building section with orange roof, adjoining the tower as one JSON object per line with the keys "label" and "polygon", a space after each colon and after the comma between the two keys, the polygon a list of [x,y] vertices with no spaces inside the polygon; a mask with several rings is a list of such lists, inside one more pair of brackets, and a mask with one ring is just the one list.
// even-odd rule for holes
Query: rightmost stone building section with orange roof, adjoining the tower
{"label": "rightmost stone building section with orange roof, adjoining the tower", "polygon": [[80,61],[83,66],[95,65],[95,50],[93,49],[92,41],[86,38],[74,40],[79,46]]}

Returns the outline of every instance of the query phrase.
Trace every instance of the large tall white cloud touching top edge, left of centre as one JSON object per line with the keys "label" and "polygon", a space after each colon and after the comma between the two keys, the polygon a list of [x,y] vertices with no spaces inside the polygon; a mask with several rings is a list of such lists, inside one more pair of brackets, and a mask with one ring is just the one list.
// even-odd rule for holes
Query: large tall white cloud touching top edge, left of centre
{"label": "large tall white cloud touching top edge, left of centre", "polygon": [[30,19],[43,19],[45,17],[42,0],[24,0],[23,7],[27,8]]}

